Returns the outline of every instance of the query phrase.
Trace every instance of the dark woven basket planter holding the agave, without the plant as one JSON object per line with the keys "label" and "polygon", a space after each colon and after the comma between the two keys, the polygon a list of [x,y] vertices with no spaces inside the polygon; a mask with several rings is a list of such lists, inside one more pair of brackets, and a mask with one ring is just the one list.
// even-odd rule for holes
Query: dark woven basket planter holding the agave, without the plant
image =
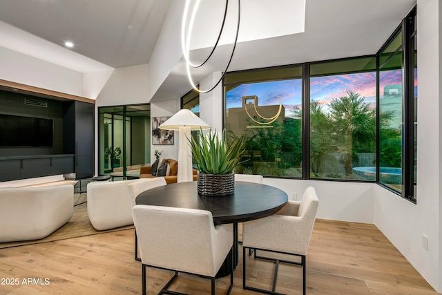
{"label": "dark woven basket planter holding the agave, without the plant", "polygon": [[198,195],[229,196],[235,192],[235,173],[198,173]]}

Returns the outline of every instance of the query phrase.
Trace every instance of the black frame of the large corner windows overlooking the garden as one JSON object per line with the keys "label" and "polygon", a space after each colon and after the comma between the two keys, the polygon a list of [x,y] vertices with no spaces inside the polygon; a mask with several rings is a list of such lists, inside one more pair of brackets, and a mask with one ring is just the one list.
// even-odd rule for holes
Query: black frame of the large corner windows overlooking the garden
{"label": "black frame of the large corner windows overlooking the garden", "polygon": [[[402,32],[402,46],[401,48],[397,48],[397,50],[402,50],[402,60],[401,60],[401,70],[403,71],[403,96],[402,96],[402,104],[403,104],[403,147],[402,147],[402,183],[403,187],[401,191],[398,191],[392,187],[388,187],[385,184],[379,182],[379,73],[380,68],[382,68],[383,64],[380,63],[380,54],[387,46],[390,45],[390,42],[396,37],[398,32]],[[361,57],[376,57],[376,181],[360,181],[360,180],[344,180],[344,179],[329,179],[329,178],[310,178],[310,126],[309,126],[309,104],[310,104],[310,78],[313,77],[310,75],[310,66],[311,64],[323,63],[329,61],[340,61],[345,59],[356,59],[361,57],[346,57],[343,59],[332,59],[325,61],[307,61],[305,63],[300,64],[289,64],[282,66],[272,66],[268,68],[254,68],[249,70],[239,70],[231,73],[245,73],[253,71],[262,71],[262,70],[277,70],[278,68],[287,68],[291,66],[301,66],[302,67],[302,177],[294,178],[294,177],[278,177],[278,176],[270,176],[267,175],[266,178],[284,178],[284,179],[302,179],[302,180],[325,180],[325,181],[344,181],[344,182],[376,182],[377,184],[385,187],[397,195],[405,198],[406,200],[410,200],[416,204],[416,182],[414,181],[414,168],[416,166],[416,134],[414,132],[414,116],[415,116],[415,104],[414,104],[414,67],[417,65],[416,62],[416,51],[415,51],[415,42],[416,42],[416,6],[410,10],[407,16],[401,21],[401,24],[394,30],[392,35],[385,41],[385,44],[381,46],[378,52],[374,55],[365,55]],[[393,54],[394,55],[394,54]],[[337,72],[337,74],[340,72]],[[229,73],[227,73],[229,75]],[[227,76],[228,77],[228,76]],[[222,95],[223,99],[223,109],[222,109],[222,124],[225,126],[226,124],[226,102],[225,102],[225,93],[224,89],[231,83],[224,83],[226,77],[223,79],[222,86]],[[249,81],[250,83],[252,81]],[[253,81],[254,82],[254,81]],[[260,82],[260,80],[256,81]]]}

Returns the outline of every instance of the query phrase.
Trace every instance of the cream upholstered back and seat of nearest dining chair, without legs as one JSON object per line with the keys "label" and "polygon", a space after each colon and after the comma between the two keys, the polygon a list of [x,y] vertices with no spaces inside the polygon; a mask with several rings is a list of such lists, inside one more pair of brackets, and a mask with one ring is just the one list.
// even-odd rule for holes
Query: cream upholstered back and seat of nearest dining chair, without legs
{"label": "cream upholstered back and seat of nearest dining chair, without legs", "polygon": [[213,226],[210,211],[136,205],[142,263],[215,276],[233,244],[231,225]]}

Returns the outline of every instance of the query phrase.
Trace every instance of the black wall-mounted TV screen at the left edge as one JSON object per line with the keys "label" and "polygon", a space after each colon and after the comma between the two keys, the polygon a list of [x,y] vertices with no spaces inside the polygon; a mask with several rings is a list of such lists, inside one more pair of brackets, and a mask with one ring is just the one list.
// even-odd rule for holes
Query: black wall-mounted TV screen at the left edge
{"label": "black wall-mounted TV screen at the left edge", "polygon": [[0,114],[0,146],[52,146],[53,120]]}

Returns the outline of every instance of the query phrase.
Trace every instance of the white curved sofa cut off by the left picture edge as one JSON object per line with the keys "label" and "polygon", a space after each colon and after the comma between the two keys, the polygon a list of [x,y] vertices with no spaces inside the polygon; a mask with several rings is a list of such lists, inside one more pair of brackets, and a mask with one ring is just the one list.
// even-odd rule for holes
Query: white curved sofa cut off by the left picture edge
{"label": "white curved sofa cut off by the left picture edge", "polygon": [[49,236],[73,216],[74,186],[0,188],[0,242]]}

